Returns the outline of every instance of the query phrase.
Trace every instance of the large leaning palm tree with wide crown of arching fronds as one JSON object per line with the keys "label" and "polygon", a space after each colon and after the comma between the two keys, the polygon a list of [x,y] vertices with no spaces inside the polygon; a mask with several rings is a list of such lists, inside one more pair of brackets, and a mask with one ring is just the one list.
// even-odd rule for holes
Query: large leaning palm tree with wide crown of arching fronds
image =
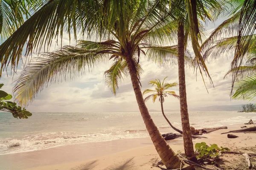
{"label": "large leaning palm tree with wide crown of arching fronds", "polygon": [[[167,168],[180,168],[179,157],[161,136],[145,105],[140,89],[140,57],[159,61],[177,58],[177,46],[171,44],[177,34],[172,8],[155,0],[50,0],[20,26],[2,45],[2,69],[13,69],[27,42],[26,56],[46,50],[55,37],[81,33],[96,41],[80,40],[76,46],[46,52],[33,60],[21,73],[14,87],[15,101],[27,105],[44,87],[53,82],[73,79],[102,62],[111,60],[105,72],[106,84],[116,94],[123,77],[130,77],[141,116],[151,140]],[[161,12],[169,11],[169,12]],[[21,36],[20,36],[21,35]]]}

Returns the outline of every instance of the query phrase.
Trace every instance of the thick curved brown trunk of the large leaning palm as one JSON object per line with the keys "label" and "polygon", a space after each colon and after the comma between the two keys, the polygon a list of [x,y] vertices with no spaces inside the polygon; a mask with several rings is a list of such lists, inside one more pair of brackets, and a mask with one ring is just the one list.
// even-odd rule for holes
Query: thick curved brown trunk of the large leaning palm
{"label": "thick curved brown trunk of the large leaning palm", "polygon": [[145,123],[146,129],[148,130],[149,136],[159,154],[160,158],[163,161],[163,164],[167,169],[177,169],[180,168],[181,160],[172,150],[172,148],[167,144],[164,140],[163,136],[157,129],[157,126],[154,124],[149,112],[148,108],[145,105],[143,95],[140,90],[140,83],[138,81],[136,71],[134,69],[134,61],[130,59],[130,57],[126,57],[126,62],[129,68],[129,73],[131,76],[131,82],[134,89],[134,93],[136,96],[136,100],[140,109],[141,116]]}

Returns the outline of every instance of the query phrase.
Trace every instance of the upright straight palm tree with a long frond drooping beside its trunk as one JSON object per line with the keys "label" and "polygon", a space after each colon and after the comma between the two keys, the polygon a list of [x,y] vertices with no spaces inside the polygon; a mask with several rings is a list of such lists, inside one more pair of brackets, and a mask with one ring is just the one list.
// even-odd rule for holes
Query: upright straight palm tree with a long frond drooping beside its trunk
{"label": "upright straight palm tree with a long frond drooping beside its trunk", "polygon": [[200,71],[203,78],[203,72],[212,79],[209,75],[204,58],[201,54],[201,37],[202,21],[214,20],[213,15],[219,13],[224,9],[224,1],[221,0],[172,0],[171,4],[176,6],[177,13],[175,13],[175,21],[177,22],[177,48],[178,48],[178,74],[179,74],[179,94],[180,94],[180,114],[183,131],[183,144],[186,156],[194,156],[194,147],[191,137],[191,130],[189,125],[189,113],[186,99],[186,79],[185,79],[185,64],[184,51],[188,46],[188,41],[191,40],[192,48],[195,53],[194,67]]}

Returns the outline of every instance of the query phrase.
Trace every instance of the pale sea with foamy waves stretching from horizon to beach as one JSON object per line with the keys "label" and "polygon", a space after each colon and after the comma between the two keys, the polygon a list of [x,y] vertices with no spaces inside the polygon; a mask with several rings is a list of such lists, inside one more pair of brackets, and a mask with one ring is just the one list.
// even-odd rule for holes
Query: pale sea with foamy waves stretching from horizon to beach
{"label": "pale sea with foamy waves stretching from horizon to beach", "polygon": [[[151,116],[161,133],[175,132],[162,113]],[[180,113],[166,112],[181,129]],[[256,121],[256,113],[236,111],[189,112],[195,128],[218,127]],[[0,113],[0,155],[47,149],[68,144],[148,137],[139,112],[123,113],[33,113],[29,119],[15,119]]]}

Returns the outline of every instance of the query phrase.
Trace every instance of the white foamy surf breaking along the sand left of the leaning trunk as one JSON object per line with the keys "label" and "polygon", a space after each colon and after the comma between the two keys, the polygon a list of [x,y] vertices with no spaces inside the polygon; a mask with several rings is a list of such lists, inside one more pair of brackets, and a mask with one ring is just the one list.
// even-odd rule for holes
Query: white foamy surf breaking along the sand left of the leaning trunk
{"label": "white foamy surf breaking along the sand left of the leaning trunk", "polygon": [[148,134],[145,133],[145,131],[146,130],[125,130],[112,133],[94,133],[83,135],[72,132],[56,132],[24,136],[22,139],[6,138],[0,139],[0,155],[42,150],[69,144],[148,137]]}

